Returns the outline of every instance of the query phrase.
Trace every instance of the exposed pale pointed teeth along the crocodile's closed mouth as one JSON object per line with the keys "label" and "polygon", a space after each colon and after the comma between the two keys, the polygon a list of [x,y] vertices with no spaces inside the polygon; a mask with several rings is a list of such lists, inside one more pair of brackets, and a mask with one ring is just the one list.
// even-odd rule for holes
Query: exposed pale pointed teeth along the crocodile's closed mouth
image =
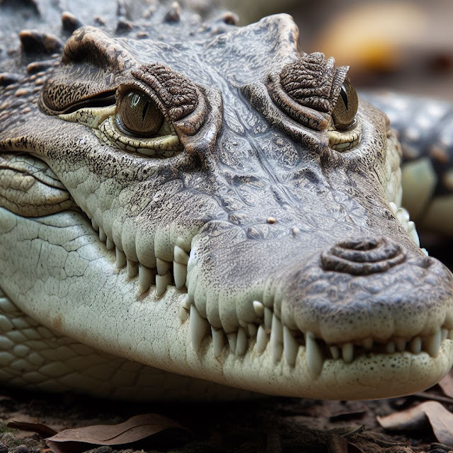
{"label": "exposed pale pointed teeth along the crocodile's closed mouth", "polygon": [[[415,227],[408,224],[406,210],[397,208],[391,203],[395,216],[403,224],[408,234],[415,234]],[[401,219],[400,219],[401,217]],[[404,222],[406,221],[406,222]],[[413,223],[413,222],[411,222]],[[283,358],[289,367],[296,367],[297,357],[305,357],[306,367],[311,377],[316,379],[321,374],[326,360],[343,361],[346,365],[359,357],[376,355],[428,353],[430,357],[437,357],[445,340],[453,340],[452,326],[447,321],[438,326],[430,335],[420,334],[411,338],[391,336],[385,341],[372,338],[357,338],[348,342],[327,343],[323,338],[317,338],[310,331],[299,331],[289,328],[273,311],[273,306],[265,306],[258,300],[250,301],[256,314],[253,322],[238,319],[239,326],[235,331],[225,331],[210,324],[205,316],[200,314],[193,297],[188,294],[188,265],[190,251],[175,245],[173,262],[156,257],[156,267],[149,268],[142,263],[129,260],[102,227],[94,219],[91,220],[93,229],[98,233],[99,240],[105,243],[110,253],[115,253],[115,265],[118,270],[125,269],[125,276],[132,280],[138,277],[138,297],[146,297],[152,287],[155,287],[155,297],[163,297],[167,287],[176,287],[180,292],[180,321],[189,323],[190,340],[195,352],[202,348],[202,343],[210,342],[208,347],[213,348],[214,355],[221,357],[227,347],[227,355],[243,357],[248,352],[271,355],[275,364]],[[415,237],[411,238],[415,241]],[[418,240],[418,236],[416,238]],[[302,354],[301,354],[302,352]],[[302,359],[299,359],[302,360]]]}

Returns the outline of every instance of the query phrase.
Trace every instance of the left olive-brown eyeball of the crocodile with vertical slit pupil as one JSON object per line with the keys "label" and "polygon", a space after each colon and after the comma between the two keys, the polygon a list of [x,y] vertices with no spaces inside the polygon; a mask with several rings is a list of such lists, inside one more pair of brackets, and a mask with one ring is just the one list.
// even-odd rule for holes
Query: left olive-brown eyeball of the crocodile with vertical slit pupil
{"label": "left olive-brown eyeball of the crocodile with vertical slit pupil", "polygon": [[134,90],[121,99],[116,120],[129,134],[153,137],[161,129],[164,115],[147,94]]}

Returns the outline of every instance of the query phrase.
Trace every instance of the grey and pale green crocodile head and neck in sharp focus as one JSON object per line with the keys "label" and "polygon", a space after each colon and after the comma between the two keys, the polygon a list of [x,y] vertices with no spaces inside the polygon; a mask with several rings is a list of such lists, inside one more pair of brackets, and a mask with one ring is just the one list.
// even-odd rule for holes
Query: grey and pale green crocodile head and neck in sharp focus
{"label": "grey and pale green crocodile head and neck in sharp focus", "polygon": [[370,399],[447,374],[453,275],[348,67],[285,14],[62,21],[1,65],[2,382]]}

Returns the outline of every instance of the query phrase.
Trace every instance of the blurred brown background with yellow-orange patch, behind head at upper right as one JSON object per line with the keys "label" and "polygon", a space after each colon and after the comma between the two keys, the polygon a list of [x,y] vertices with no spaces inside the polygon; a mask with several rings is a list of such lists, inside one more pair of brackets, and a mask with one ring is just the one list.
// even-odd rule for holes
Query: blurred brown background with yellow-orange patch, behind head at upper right
{"label": "blurred brown background with yellow-orange patch, behind head at upper right", "polygon": [[360,88],[453,101],[452,0],[222,0],[241,24],[289,13],[305,52],[349,64]]}

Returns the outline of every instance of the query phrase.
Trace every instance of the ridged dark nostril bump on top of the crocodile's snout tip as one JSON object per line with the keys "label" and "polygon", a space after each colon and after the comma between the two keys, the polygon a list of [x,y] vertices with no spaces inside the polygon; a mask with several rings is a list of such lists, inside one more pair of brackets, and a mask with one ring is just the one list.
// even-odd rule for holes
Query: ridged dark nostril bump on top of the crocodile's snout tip
{"label": "ridged dark nostril bump on top of the crocodile's snout tip", "polygon": [[351,275],[384,272],[405,259],[403,249],[384,237],[346,239],[321,253],[324,270]]}

